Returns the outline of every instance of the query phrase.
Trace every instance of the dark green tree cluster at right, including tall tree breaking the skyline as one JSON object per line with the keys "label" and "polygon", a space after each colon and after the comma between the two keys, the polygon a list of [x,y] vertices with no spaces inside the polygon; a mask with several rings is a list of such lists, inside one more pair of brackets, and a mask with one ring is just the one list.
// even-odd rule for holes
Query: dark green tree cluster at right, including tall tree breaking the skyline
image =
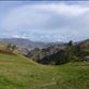
{"label": "dark green tree cluster at right, including tall tree breaking the skyline", "polygon": [[69,41],[66,49],[67,60],[68,61],[85,61],[85,56],[89,55],[89,51],[86,48],[78,44],[73,44],[73,41]]}

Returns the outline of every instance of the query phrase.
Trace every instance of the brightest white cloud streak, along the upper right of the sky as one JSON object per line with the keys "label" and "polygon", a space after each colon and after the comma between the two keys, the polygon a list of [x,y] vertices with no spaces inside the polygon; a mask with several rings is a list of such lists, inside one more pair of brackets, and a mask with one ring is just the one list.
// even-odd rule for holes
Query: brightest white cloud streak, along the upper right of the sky
{"label": "brightest white cloud streak, along the upper right of the sky", "polygon": [[67,15],[67,16],[78,16],[87,11],[89,8],[82,5],[67,5],[65,3],[51,3],[51,4],[41,4],[36,5],[37,9],[53,11],[58,14]]}

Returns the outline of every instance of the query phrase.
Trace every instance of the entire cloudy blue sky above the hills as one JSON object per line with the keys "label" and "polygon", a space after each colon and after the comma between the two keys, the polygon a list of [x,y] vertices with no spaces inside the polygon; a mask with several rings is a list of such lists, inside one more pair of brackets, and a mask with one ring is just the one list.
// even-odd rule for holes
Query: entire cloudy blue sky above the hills
{"label": "entire cloudy blue sky above the hills", "polygon": [[0,38],[89,39],[89,1],[0,1]]}

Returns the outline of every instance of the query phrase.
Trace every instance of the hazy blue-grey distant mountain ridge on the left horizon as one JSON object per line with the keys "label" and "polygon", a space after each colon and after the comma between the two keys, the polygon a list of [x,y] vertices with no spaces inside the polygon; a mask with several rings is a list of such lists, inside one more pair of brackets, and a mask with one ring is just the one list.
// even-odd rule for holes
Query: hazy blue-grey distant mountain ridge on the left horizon
{"label": "hazy blue-grey distant mountain ridge on the left horizon", "polygon": [[3,38],[3,39],[0,39],[0,42],[16,44],[18,48],[27,48],[29,50],[34,48],[42,49],[42,48],[47,48],[47,47],[60,43],[60,42],[30,41],[29,39],[24,39],[24,38]]}

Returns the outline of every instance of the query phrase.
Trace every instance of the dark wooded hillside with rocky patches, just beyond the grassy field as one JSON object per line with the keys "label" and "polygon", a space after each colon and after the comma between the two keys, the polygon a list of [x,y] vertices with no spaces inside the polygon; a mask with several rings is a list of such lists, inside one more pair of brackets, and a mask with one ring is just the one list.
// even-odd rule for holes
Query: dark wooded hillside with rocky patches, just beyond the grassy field
{"label": "dark wooded hillside with rocky patches, just beyond the grassy field", "polygon": [[41,64],[60,65],[67,62],[82,62],[89,55],[88,47],[80,43],[73,43],[71,40],[66,44],[52,46],[46,49],[30,51],[27,56]]}

